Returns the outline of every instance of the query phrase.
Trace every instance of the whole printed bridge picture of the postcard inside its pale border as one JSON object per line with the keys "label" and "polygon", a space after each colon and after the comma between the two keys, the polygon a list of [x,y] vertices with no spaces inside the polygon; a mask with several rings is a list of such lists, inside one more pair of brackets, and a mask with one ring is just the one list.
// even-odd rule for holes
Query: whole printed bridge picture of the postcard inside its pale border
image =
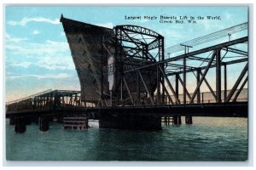
{"label": "whole printed bridge picture of the postcard inside its pale border", "polygon": [[248,6],[4,8],[7,161],[248,160]]}

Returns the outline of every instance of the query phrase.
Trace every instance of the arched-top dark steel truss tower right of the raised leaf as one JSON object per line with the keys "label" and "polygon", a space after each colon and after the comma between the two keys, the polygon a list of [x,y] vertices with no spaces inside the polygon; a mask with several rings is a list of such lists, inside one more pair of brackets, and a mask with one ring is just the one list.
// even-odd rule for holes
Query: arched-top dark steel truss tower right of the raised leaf
{"label": "arched-top dark steel truss tower right of the raised leaf", "polygon": [[[154,89],[157,89],[158,98],[160,98],[160,83],[163,82],[163,76],[157,76],[158,73],[151,67],[142,71],[129,73],[125,71],[164,60],[164,37],[141,26],[115,26],[114,37],[105,40],[103,46],[114,60],[114,64],[109,66],[108,74],[114,74],[115,77],[112,96],[118,100],[115,105],[125,104],[125,94],[128,94],[126,97],[130,99],[131,105],[141,105],[142,96],[146,96],[148,102],[154,104]],[[164,69],[164,65],[161,67]],[[155,76],[154,88],[148,87],[150,75]],[[136,89],[131,87],[134,83],[129,80],[131,77],[137,77]]]}

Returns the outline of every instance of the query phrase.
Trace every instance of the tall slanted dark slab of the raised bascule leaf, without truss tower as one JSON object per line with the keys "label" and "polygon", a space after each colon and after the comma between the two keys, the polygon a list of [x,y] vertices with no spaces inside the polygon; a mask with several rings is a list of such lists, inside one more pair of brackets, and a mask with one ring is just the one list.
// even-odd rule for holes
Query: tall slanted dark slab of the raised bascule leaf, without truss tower
{"label": "tall slanted dark slab of the raised bascule leaf, without truss tower", "polygon": [[96,102],[108,95],[108,76],[102,76],[102,66],[108,65],[102,41],[112,29],[93,26],[61,16],[75,68],[81,85],[81,99]]}

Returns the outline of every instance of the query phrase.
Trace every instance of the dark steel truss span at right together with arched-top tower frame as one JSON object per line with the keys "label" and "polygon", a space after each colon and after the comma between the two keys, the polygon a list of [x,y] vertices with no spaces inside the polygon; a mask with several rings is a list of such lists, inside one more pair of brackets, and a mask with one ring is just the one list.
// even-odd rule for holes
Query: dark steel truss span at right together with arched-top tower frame
{"label": "dark steel truss span at right together with arched-top tower frame", "polygon": [[[135,73],[137,75],[137,84],[139,82],[143,82],[143,88],[146,89],[146,95],[148,98],[148,105],[166,105],[172,104],[192,104],[192,103],[201,103],[201,84],[203,82],[206,83],[207,88],[212,94],[212,97],[216,100],[216,103],[223,103],[223,102],[236,102],[241,90],[245,87],[248,76],[247,76],[247,69],[248,69],[248,52],[245,49],[238,49],[234,48],[234,45],[241,44],[248,41],[248,37],[241,37],[233,41],[219,43],[217,45],[202,48],[200,50],[196,50],[190,53],[185,53],[178,55],[176,57],[172,57],[170,59],[164,59],[164,44],[163,44],[163,37],[154,36],[154,41],[150,42],[146,45],[143,41],[138,42],[138,39],[135,39],[131,35],[134,33],[142,34],[142,35],[149,35],[147,31],[143,31],[143,29],[136,29],[134,26],[132,29],[126,26],[117,26],[115,28],[115,43],[119,44],[119,50],[117,49],[113,55],[115,59],[119,59],[119,63],[122,63],[121,59],[125,60],[127,58],[140,58],[140,59],[152,59],[152,55],[148,54],[148,49],[151,47],[156,47],[159,49],[160,57],[157,61],[154,61],[148,65],[141,65],[136,66],[133,65],[130,69],[126,69],[124,65],[119,65],[119,71],[121,72],[121,83],[125,83],[125,88],[129,92],[130,87],[129,84],[125,81],[125,75]],[[127,32],[128,33],[127,33]],[[124,45],[124,42],[133,42],[137,47],[132,48],[132,53],[129,55],[130,51],[127,50],[128,48]],[[121,45],[120,45],[121,44]],[[115,46],[117,47],[117,46]],[[150,47],[150,48],[148,48]],[[130,48],[131,50],[131,48]],[[135,51],[134,51],[135,50]],[[144,52],[142,55],[139,55],[139,52]],[[236,57],[228,57],[228,54],[237,54]],[[125,57],[120,57],[125,56]],[[232,59],[230,59],[232,58]],[[226,59],[226,60],[225,60]],[[189,65],[188,61],[198,61],[204,63],[204,65],[195,66]],[[240,76],[237,78],[234,86],[231,88],[230,93],[228,93],[227,89],[227,66],[228,65],[236,65],[239,63],[245,63],[244,68],[241,70]],[[216,89],[215,91],[212,89],[211,84],[207,81],[207,73],[211,68],[215,68],[215,82],[216,82]],[[222,77],[222,68],[224,69],[224,76]],[[154,70],[156,75],[152,75],[156,77],[157,86],[154,93],[150,93],[147,87],[147,84],[144,80],[142,72],[145,70]],[[186,75],[188,73],[193,73],[195,75],[196,86],[195,90],[192,94],[189,94],[187,82],[186,82]],[[181,78],[183,76],[183,79]],[[170,81],[170,77],[174,77],[175,79],[175,86],[172,85]],[[222,80],[224,80],[224,88],[222,87]],[[179,99],[179,82],[181,87],[183,88],[183,99]],[[229,82],[233,83],[233,82]],[[239,87],[239,85],[241,86]],[[160,89],[160,87],[162,89]],[[224,94],[222,94],[224,91]],[[123,93],[123,90],[120,91]],[[139,88],[137,88],[137,99],[134,99],[129,93],[129,99],[131,99],[132,105],[143,105],[143,102],[135,102],[140,97],[138,96],[140,93]],[[122,96],[122,94],[121,94]],[[174,100],[173,100],[174,97]],[[196,100],[195,101],[195,97]],[[121,100],[121,99],[120,99]],[[169,102],[166,102],[169,100]],[[188,100],[188,101],[187,101]]]}

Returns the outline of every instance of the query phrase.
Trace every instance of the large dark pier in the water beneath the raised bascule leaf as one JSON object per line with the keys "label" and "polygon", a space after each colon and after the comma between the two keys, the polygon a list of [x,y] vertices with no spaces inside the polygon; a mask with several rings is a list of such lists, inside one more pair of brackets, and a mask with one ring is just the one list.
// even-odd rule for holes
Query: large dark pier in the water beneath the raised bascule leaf
{"label": "large dark pier in the water beneath the raised bascule leaf", "polygon": [[161,129],[161,116],[106,116],[99,120],[99,127],[132,130]]}

